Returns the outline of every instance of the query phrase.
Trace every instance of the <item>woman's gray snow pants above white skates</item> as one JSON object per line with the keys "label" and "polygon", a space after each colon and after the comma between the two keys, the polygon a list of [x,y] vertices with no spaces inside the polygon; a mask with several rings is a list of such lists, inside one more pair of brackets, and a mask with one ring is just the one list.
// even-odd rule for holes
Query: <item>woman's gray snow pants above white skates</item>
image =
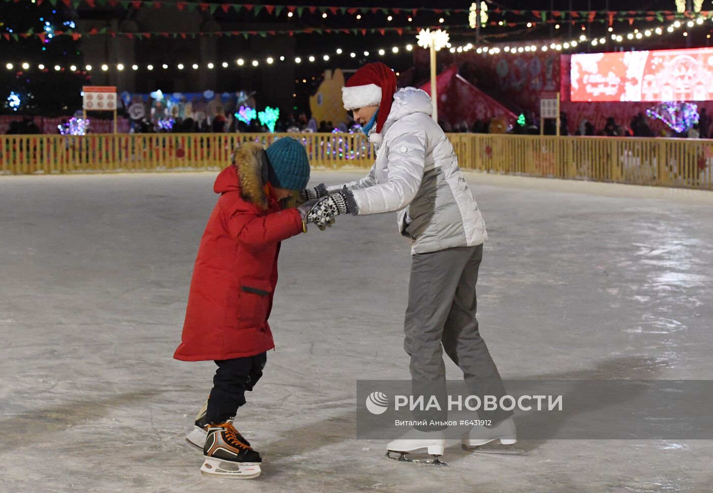
{"label": "woman's gray snow pants above white skates", "polygon": [[[414,397],[425,402],[436,396],[441,411],[414,411],[414,420],[446,421],[446,366],[443,350],[463,371],[471,395],[495,395],[505,387],[488,347],[478,332],[476,282],[483,259],[483,245],[417,253],[411,264],[409,306],[404,322],[404,349],[411,356],[411,385]],[[499,408],[478,410],[478,419],[493,424],[513,415]],[[420,425],[419,430],[443,430],[443,425]]]}

